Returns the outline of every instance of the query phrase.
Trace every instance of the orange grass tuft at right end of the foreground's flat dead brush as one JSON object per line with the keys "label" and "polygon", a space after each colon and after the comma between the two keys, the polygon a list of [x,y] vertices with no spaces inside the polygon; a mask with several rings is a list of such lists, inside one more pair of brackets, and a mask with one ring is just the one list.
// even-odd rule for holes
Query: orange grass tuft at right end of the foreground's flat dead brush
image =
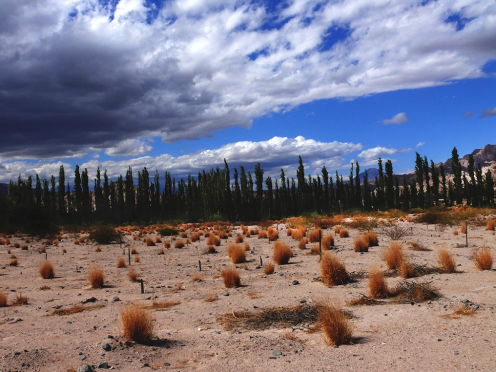
{"label": "orange grass tuft at right end of the foreground's flat dead brush", "polygon": [[329,345],[353,343],[353,325],[345,313],[331,304],[319,304],[318,319]]}

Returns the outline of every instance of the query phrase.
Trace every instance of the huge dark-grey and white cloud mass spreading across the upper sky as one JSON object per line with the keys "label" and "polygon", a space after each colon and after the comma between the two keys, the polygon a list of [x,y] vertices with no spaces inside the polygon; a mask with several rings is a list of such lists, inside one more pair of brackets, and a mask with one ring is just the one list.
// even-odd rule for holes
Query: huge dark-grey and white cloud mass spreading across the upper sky
{"label": "huge dark-grey and white cloud mass spreading across the upper sky", "polygon": [[140,156],[151,137],[481,77],[495,46],[494,1],[3,0],[0,157]]}

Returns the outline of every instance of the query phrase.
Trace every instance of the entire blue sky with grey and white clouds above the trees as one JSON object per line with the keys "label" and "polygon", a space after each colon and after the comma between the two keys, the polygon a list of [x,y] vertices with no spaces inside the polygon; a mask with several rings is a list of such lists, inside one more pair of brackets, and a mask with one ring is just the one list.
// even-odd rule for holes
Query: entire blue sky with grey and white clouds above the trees
{"label": "entire blue sky with grey and white clouds above the trees", "polygon": [[495,143],[494,0],[1,0],[0,182],[296,179]]}

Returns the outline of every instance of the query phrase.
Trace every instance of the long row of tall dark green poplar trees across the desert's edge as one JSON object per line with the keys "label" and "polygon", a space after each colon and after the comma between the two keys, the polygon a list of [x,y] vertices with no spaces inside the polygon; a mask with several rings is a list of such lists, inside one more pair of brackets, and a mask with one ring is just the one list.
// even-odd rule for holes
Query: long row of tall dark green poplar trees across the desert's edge
{"label": "long row of tall dark green poplar trees across the desert's edge", "polygon": [[[378,159],[378,175],[369,180],[368,172],[360,180],[358,161],[351,164],[349,180],[344,181],[336,171],[335,180],[325,166],[321,176],[305,176],[302,158],[296,180],[286,177],[281,169],[279,179],[264,179],[263,169],[254,166],[254,179],[243,166],[234,168],[233,178],[227,162],[224,168],[199,172],[194,178],[188,175],[176,182],[165,172],[161,186],[158,171],[150,176],[144,168],[137,173],[137,185],[131,167],[125,177],[109,181],[107,171],[97,170],[93,191],[89,188],[87,169],[82,172],[76,165],[74,184],[65,182],[63,166],[58,180],[33,180],[19,178],[10,181],[8,197],[3,200],[10,223],[22,225],[30,218],[43,218],[59,224],[125,222],[156,222],[179,219],[187,222],[207,220],[259,221],[316,212],[336,214],[344,211],[409,210],[434,205],[461,204],[463,199],[473,206],[494,205],[494,182],[491,171],[483,175],[480,164],[475,167],[470,155],[467,173],[462,172],[456,148],[452,151],[448,177],[442,164],[436,166],[418,153],[415,175],[404,175],[398,180],[393,175],[393,165],[387,160],[382,165]],[[355,176],[354,176],[355,171]],[[103,179],[102,179],[103,176]],[[401,182],[401,186],[400,186]],[[4,216],[5,217],[5,216]],[[5,218],[4,218],[5,219]]]}

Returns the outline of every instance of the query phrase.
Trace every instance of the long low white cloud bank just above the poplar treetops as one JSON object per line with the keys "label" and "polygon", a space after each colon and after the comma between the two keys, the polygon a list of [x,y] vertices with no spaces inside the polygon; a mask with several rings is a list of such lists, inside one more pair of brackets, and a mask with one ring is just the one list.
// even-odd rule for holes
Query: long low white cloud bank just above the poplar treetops
{"label": "long low white cloud bank just above the poplar treetops", "polygon": [[[102,171],[107,170],[109,178],[115,180],[119,175],[125,175],[128,166],[134,172],[141,171],[146,167],[152,173],[158,170],[161,177],[168,171],[176,177],[185,177],[188,173],[196,176],[198,171],[208,171],[215,167],[224,167],[224,159],[230,168],[243,165],[247,170],[259,162],[266,176],[278,177],[280,169],[284,168],[296,177],[294,165],[298,164],[298,156],[301,155],[305,165],[310,170],[322,166],[329,168],[339,167],[344,157],[350,153],[360,151],[363,146],[360,143],[347,142],[320,142],[306,139],[302,136],[296,138],[273,137],[267,141],[242,141],[223,145],[217,149],[202,150],[195,153],[174,157],[163,154],[156,157],[142,156],[129,160],[106,160],[92,159],[79,164],[81,169],[87,168],[90,179],[95,177],[98,167]],[[0,182],[15,180],[19,174],[22,178],[34,177],[39,174],[41,178],[50,178],[51,175],[58,176],[61,163],[30,163],[27,161],[11,161],[0,163]],[[64,164],[65,178],[72,180],[73,169]]]}

